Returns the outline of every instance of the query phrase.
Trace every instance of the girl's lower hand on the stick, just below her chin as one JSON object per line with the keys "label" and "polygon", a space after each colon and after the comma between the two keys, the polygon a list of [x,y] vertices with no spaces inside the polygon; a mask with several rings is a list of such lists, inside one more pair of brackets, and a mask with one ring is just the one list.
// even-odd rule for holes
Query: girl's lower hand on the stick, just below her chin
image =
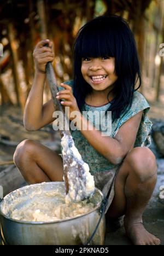
{"label": "girl's lower hand on the stick, just below her chin", "polygon": [[[71,86],[62,83],[61,87],[65,88],[65,90],[61,90],[61,91],[57,92],[57,94],[56,94],[57,100],[61,100],[61,99],[65,100],[65,101],[61,101],[61,104],[62,104],[62,106],[69,107],[70,114],[73,111],[80,112],[80,110],[78,108],[77,100],[73,96]],[[72,120],[73,118],[69,117],[69,119]]]}

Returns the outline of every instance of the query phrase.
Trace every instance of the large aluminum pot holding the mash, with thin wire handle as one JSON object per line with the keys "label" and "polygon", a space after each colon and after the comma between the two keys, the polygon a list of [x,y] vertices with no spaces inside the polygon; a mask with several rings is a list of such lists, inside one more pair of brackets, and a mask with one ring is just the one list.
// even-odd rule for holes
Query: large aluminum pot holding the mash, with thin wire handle
{"label": "large aluminum pot holding the mash, with thin wire handle", "polygon": [[[9,218],[4,214],[5,207],[17,193],[27,200],[33,191],[42,187],[43,191],[65,190],[63,182],[49,182],[28,185],[6,195],[0,204],[1,236],[4,245],[85,245],[96,228],[100,217],[103,194],[96,189],[91,202],[95,207],[87,214],[54,222],[26,222]],[[90,245],[103,245],[105,235],[105,217],[101,219]]]}

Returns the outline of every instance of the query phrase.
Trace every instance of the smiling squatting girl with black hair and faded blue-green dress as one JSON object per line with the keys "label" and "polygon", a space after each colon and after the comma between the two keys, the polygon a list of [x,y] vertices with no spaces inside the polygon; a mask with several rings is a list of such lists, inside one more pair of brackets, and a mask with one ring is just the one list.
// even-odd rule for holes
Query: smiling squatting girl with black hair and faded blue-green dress
{"label": "smiling squatting girl with black hair and faded blue-green dress", "polygon": [[[44,47],[49,43],[50,48]],[[52,100],[43,105],[45,66],[53,61],[49,40],[34,49],[36,73],[27,98],[24,125],[36,131],[54,119]],[[134,245],[159,245],[145,230],[142,214],[153,193],[157,166],[148,149],[151,122],[149,104],[135,86],[140,86],[136,45],[130,28],[119,16],[99,16],[84,25],[74,44],[74,80],[61,84],[57,94],[70,114],[78,111],[77,130],[71,131],[84,161],[90,166],[96,187],[109,196],[107,218],[124,216],[128,237]],[[112,133],[102,136],[90,129],[83,110],[112,111]],[[72,120],[69,116],[69,119]],[[87,126],[80,129],[79,123]],[[93,122],[94,125],[94,122]],[[79,130],[78,130],[79,129]],[[146,146],[146,147],[145,147]],[[17,146],[14,162],[30,184],[62,181],[62,158],[31,139]]]}

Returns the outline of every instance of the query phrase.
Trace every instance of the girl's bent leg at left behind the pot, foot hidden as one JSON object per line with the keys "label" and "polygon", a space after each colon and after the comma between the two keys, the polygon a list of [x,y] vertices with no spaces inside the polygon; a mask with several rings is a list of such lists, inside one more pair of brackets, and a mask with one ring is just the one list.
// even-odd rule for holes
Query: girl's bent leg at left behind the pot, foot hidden
{"label": "girl's bent leg at left behind the pot, foot hidden", "polygon": [[63,181],[61,156],[32,139],[17,146],[14,162],[28,184]]}

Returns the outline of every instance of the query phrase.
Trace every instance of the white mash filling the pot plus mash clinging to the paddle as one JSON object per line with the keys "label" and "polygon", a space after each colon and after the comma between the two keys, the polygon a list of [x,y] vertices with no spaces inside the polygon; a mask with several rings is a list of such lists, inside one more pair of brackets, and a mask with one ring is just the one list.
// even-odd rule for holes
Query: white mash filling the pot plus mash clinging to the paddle
{"label": "white mash filling the pot plus mash clinging to the paddle", "polygon": [[68,194],[65,194],[65,186],[55,190],[44,190],[38,184],[32,190],[26,186],[23,190],[16,190],[14,196],[11,193],[8,200],[4,199],[2,212],[6,216],[29,222],[53,222],[93,210],[95,206],[88,199],[95,192],[95,182],[89,166],[81,158],[71,136],[63,136],[61,145],[63,168],[69,183]]}

